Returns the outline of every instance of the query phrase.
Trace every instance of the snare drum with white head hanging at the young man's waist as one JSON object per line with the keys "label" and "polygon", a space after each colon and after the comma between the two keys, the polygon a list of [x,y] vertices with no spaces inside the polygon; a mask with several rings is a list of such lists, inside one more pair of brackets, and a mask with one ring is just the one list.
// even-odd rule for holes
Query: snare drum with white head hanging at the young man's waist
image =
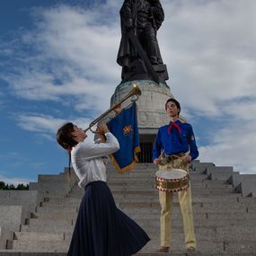
{"label": "snare drum with white head hanging at the young man's waist", "polygon": [[188,172],[181,169],[168,169],[155,172],[155,187],[166,192],[187,190],[189,186]]}

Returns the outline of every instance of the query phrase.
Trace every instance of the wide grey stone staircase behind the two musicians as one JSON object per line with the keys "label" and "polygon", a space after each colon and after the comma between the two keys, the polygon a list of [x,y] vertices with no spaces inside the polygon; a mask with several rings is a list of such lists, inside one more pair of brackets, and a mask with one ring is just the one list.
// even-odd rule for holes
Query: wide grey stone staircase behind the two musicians
{"label": "wide grey stone staircase behind the two musicians", "polygon": [[[139,163],[135,170],[123,174],[111,165],[108,168],[108,184],[117,206],[151,237],[150,243],[137,253],[141,256],[170,255],[154,253],[160,244],[160,205],[158,191],[154,189],[155,171],[157,169],[151,163]],[[13,240],[7,243],[8,249],[1,250],[0,256],[66,255],[84,190],[76,185],[74,173],[69,190],[63,179],[66,175],[62,173],[61,176],[63,183],[53,181],[50,175],[41,175],[38,188],[43,194],[42,202],[26,224],[21,225],[21,230],[14,232]],[[190,180],[198,243],[197,252],[190,254],[256,255],[256,198],[252,197],[253,190],[239,183],[239,175],[231,167],[216,167],[213,163],[194,161],[190,167]],[[53,193],[49,190],[50,183],[57,186]],[[43,184],[47,184],[47,191],[43,190]],[[68,192],[63,194],[62,188]],[[186,255],[176,195],[173,202],[171,254]]]}

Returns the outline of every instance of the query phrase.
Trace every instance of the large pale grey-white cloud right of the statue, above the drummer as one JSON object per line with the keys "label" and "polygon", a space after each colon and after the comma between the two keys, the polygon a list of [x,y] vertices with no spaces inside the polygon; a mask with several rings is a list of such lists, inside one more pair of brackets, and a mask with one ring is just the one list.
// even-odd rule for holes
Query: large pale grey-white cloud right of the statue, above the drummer
{"label": "large pale grey-white cloud right of the statue, above the drummer", "polygon": [[163,1],[159,31],[172,93],[187,108],[219,115],[219,103],[256,94],[256,2]]}

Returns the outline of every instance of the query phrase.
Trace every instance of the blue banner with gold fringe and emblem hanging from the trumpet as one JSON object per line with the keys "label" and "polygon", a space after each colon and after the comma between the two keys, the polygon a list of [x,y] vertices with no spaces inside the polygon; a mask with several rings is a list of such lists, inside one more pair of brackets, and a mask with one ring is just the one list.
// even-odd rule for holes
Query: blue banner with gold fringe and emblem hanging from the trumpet
{"label": "blue banner with gold fringe and emblem hanging from the trumpet", "polygon": [[118,172],[132,170],[138,162],[137,153],[140,152],[136,102],[111,119],[108,128],[117,137],[120,146],[119,151],[111,155],[112,162]]}

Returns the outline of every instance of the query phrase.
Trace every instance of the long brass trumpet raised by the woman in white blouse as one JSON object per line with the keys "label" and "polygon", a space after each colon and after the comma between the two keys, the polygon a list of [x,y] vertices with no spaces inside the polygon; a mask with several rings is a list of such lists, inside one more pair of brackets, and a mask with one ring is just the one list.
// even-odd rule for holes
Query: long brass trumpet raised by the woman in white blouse
{"label": "long brass trumpet raised by the woman in white blouse", "polygon": [[[112,110],[116,109],[119,104],[121,104],[122,102],[125,102],[126,100],[128,100],[128,98],[137,95],[137,99],[138,96],[141,95],[141,91],[140,89],[137,87],[136,84],[133,85],[133,88],[131,89],[131,91],[119,102],[115,103],[109,110],[106,110],[100,117],[94,119],[90,124],[89,127],[84,129],[84,132],[86,132],[88,129],[90,129],[93,133],[95,133],[95,131],[93,131],[93,126],[95,124],[97,124],[98,122],[100,122],[102,119],[104,119]],[[137,101],[137,99],[135,101]]]}

